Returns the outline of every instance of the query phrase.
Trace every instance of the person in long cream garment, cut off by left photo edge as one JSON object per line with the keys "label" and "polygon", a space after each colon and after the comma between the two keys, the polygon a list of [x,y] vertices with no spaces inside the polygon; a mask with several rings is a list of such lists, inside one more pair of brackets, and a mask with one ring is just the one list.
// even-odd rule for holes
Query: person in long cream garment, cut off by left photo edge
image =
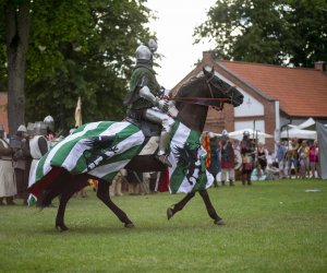
{"label": "person in long cream garment, cut off by left photo edge", "polygon": [[0,205],[14,205],[14,195],[17,193],[13,168],[13,150],[4,140],[4,128],[0,123]]}

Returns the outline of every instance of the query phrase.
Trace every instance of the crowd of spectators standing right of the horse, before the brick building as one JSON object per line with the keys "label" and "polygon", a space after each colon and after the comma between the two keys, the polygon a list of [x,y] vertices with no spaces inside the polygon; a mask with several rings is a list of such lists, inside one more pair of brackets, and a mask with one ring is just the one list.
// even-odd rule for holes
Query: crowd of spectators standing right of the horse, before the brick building
{"label": "crowd of spectators standing right of the horse, before the brick building", "polygon": [[255,180],[320,178],[317,140],[281,140],[269,151],[250,138],[246,131],[242,141],[230,139],[226,130],[221,134],[204,132],[202,142],[211,159],[206,164],[215,187],[219,181],[225,186],[228,180],[234,186],[237,178],[243,186]]}

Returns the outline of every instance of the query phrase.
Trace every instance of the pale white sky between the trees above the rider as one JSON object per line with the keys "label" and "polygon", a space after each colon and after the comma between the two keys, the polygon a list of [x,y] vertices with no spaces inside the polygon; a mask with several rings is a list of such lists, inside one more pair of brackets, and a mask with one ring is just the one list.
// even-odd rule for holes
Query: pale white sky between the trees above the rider
{"label": "pale white sky between the trees above the rider", "polygon": [[156,11],[157,21],[150,31],[157,33],[161,69],[156,68],[159,84],[172,88],[202,59],[202,52],[213,49],[209,43],[193,45],[194,28],[205,22],[206,13],[216,0],[148,0],[147,7]]}

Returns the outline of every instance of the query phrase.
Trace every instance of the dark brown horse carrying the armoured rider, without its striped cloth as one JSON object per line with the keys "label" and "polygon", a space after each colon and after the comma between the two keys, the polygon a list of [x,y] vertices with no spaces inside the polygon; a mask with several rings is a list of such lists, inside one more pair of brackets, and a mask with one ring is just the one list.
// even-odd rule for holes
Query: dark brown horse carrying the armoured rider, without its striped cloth
{"label": "dark brown horse carrying the armoured rider, without its striped cloth", "polygon": [[[179,115],[177,117],[183,124],[192,130],[202,132],[205,126],[208,107],[215,107],[221,110],[225,103],[232,104],[234,107],[243,103],[243,95],[234,87],[219,79],[215,74],[214,69],[207,71],[203,69],[204,74],[194,78],[183,85],[175,97]],[[136,155],[125,166],[126,169],[133,171],[161,171],[166,167],[155,159],[154,155]],[[39,198],[41,206],[48,206],[53,198],[60,195],[60,204],[58,207],[56,228],[66,230],[64,224],[65,206],[70,198],[87,185],[87,180],[93,178],[89,174],[72,175],[64,168],[53,168],[50,176],[47,176],[46,187]],[[98,179],[98,178],[97,178]],[[110,182],[98,179],[97,197],[117,215],[125,227],[133,227],[134,224],[128,215],[118,207],[109,194]],[[201,194],[208,215],[214,219],[216,225],[223,225],[223,221],[216,213],[207,190],[198,191]],[[181,211],[185,204],[195,195],[195,192],[186,193],[178,203],[167,210],[167,217],[170,219],[178,211]]]}

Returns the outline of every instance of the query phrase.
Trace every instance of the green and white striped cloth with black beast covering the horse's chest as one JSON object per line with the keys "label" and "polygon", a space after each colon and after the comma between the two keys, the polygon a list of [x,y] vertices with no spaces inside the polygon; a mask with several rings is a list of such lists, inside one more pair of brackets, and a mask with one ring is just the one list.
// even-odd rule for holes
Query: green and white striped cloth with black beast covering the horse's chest
{"label": "green and white striped cloth with black beast covering the horse's chest", "polygon": [[213,176],[207,171],[207,152],[201,144],[201,132],[175,122],[170,143],[169,190],[171,193],[195,192],[209,188]]}

